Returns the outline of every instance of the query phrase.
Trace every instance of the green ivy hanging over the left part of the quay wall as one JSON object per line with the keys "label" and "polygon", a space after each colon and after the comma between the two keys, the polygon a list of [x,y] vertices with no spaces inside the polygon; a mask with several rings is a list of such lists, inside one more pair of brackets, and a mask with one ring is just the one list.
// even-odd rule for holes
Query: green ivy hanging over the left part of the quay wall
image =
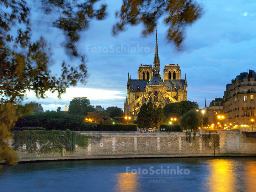
{"label": "green ivy hanging over the left part of the quay wall", "polygon": [[[30,153],[38,151],[39,153],[60,152],[63,148],[66,151],[74,151],[75,145],[82,148],[87,147],[88,138],[91,136],[82,135],[67,129],[63,131],[13,131],[14,133],[14,150],[26,144],[26,150]],[[37,143],[40,149],[37,149]]]}

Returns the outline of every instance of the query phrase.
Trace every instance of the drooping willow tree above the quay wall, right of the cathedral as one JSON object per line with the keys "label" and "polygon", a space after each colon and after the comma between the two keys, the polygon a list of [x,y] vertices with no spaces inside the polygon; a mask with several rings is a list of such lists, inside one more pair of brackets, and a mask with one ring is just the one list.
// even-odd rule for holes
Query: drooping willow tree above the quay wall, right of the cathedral
{"label": "drooping willow tree above the quay wall, right of the cathedral", "polygon": [[198,131],[202,127],[202,117],[195,110],[190,110],[180,118],[181,130]]}

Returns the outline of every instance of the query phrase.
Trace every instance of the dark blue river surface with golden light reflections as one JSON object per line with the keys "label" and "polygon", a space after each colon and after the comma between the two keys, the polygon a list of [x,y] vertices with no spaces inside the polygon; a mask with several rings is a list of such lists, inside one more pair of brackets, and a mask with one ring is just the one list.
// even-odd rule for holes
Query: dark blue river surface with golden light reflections
{"label": "dark blue river surface with golden light reflections", "polygon": [[16,191],[256,192],[256,158],[81,160],[4,167],[0,192]]}

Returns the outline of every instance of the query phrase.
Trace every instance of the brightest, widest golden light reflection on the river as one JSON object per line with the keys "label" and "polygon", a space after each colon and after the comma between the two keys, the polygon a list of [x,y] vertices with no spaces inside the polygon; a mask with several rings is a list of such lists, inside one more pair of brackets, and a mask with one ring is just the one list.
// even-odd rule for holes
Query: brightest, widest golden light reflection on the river
{"label": "brightest, widest golden light reflection on the river", "polygon": [[236,173],[233,160],[213,159],[209,161],[209,177],[206,187],[210,192],[236,191]]}

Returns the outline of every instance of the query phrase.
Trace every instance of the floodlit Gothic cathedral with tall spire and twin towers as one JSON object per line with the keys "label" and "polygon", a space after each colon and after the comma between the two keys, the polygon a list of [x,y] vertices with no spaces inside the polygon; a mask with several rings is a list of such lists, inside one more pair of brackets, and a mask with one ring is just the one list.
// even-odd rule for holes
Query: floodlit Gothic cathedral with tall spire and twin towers
{"label": "floodlit Gothic cathedral with tall spire and twin towers", "polygon": [[158,42],[156,33],[154,67],[140,65],[138,79],[131,79],[128,73],[127,96],[124,102],[124,113],[137,119],[137,113],[144,103],[153,102],[164,107],[170,102],[187,101],[187,79],[181,79],[180,65],[169,64],[164,67],[164,75],[160,75]]}

